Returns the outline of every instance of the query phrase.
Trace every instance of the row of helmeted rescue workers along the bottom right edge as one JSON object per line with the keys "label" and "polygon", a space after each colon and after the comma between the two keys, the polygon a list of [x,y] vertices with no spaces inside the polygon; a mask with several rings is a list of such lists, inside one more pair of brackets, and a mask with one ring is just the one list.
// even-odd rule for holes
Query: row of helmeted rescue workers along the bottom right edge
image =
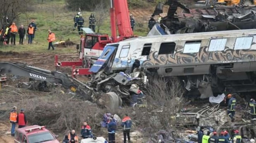
{"label": "row of helmeted rescue workers along the bottom right edge", "polygon": [[207,134],[204,135],[204,128],[201,127],[200,130],[198,131],[198,143],[241,143],[242,137],[239,135],[238,130],[234,130],[234,136],[231,138],[230,134],[228,131],[221,131],[220,136],[217,136],[217,132],[214,131],[211,132],[207,131]]}

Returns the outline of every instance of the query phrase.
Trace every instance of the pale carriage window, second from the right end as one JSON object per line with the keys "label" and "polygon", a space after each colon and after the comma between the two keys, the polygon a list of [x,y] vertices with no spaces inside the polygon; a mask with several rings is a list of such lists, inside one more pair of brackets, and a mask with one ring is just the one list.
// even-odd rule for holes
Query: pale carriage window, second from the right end
{"label": "pale carriage window, second from the right end", "polygon": [[222,51],[225,49],[227,39],[211,39],[208,52]]}

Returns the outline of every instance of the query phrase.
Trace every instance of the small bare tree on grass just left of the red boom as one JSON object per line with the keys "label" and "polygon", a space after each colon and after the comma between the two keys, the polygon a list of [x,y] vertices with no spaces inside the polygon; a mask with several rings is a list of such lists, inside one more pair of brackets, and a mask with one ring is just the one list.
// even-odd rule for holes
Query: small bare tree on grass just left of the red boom
{"label": "small bare tree on grass just left of the red boom", "polygon": [[96,19],[95,26],[97,27],[97,33],[99,33],[100,27],[103,25],[104,20],[109,17],[109,8],[107,8],[103,2],[100,2],[95,7],[94,15]]}

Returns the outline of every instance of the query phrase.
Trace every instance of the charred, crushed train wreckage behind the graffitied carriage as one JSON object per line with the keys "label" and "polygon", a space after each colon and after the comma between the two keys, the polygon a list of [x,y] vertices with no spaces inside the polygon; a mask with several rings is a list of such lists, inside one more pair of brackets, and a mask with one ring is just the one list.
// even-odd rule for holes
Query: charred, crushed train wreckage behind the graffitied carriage
{"label": "charred, crushed train wreckage behind the graffitied carriage", "polygon": [[[168,0],[167,16],[161,18],[149,35],[163,30],[161,34],[198,33],[222,30],[253,29],[256,28],[255,6],[213,6],[206,8],[189,9],[176,0]],[[163,13],[164,4],[156,6],[154,15]],[[177,12],[178,7],[182,12]],[[168,28],[169,32],[165,32]]]}

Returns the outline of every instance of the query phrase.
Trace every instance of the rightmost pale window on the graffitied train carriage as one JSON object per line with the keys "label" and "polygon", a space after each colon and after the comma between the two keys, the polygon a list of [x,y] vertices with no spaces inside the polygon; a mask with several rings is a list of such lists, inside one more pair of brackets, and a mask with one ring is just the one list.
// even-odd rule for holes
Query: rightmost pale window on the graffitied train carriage
{"label": "rightmost pale window on the graffitied train carriage", "polygon": [[236,39],[234,50],[250,49],[253,37],[239,37]]}

